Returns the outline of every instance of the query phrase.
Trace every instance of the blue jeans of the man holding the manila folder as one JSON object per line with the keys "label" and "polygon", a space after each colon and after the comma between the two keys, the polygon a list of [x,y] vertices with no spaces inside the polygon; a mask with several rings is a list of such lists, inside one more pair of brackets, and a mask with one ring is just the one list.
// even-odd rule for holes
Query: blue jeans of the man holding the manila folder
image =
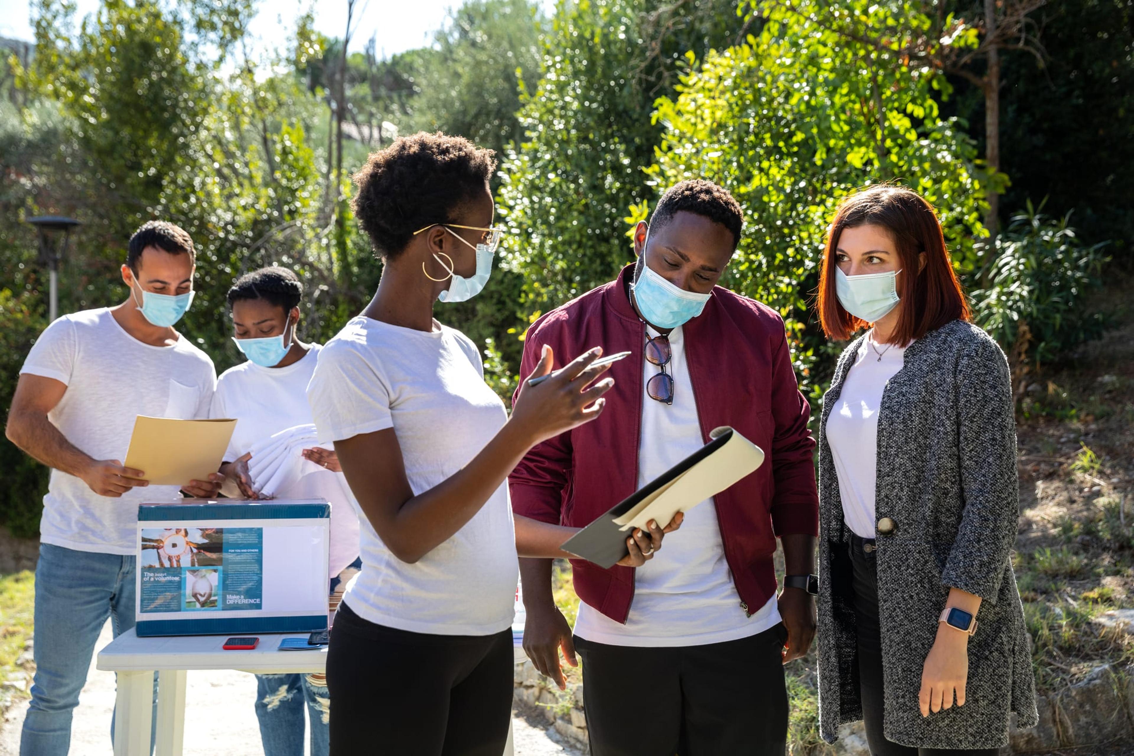
{"label": "blue jeans of the man holding the manila folder", "polygon": [[[40,544],[35,567],[35,678],[20,756],[67,756],[71,713],[94,644],[110,617],[115,637],[134,627],[134,557]],[[154,703],[158,680],[154,676]],[[154,707],[154,725],[158,711]],[[111,719],[110,736],[115,724]],[[150,748],[156,728],[151,728]]]}

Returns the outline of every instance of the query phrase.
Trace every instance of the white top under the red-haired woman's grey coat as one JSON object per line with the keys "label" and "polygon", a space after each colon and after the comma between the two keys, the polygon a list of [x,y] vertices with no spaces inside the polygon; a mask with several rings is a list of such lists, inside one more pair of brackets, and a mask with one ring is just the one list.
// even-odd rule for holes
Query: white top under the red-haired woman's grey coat
{"label": "white top under the red-haired woman's grey coat", "polygon": [[902,369],[906,354],[903,347],[878,345],[873,339],[871,331],[862,340],[838,401],[827,417],[827,442],[839,478],[843,519],[852,533],[863,538],[874,537],[878,410],[882,391]]}

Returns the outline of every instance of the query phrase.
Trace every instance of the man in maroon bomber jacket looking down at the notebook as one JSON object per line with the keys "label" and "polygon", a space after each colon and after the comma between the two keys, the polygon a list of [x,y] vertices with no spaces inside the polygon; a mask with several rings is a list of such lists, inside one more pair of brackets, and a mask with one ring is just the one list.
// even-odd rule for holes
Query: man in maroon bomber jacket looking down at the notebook
{"label": "man in maroon bomber jacket looking down at the notebook", "polygon": [[[559,363],[594,346],[633,354],[609,372],[602,417],[516,467],[517,519],[586,526],[721,425],[765,452],[760,469],[686,512],[657,554],[643,552],[642,567],[573,560],[574,638],[551,597],[551,560],[521,560],[524,648],[560,687],[559,649],[572,665],[582,654],[594,756],[785,753],[782,664],[806,653],[815,629],[814,440],[782,320],[716,286],[742,224],[725,189],[678,184],[638,223],[637,263],[526,335],[523,374],[543,345]],[[777,537],[788,574],[778,600]]]}

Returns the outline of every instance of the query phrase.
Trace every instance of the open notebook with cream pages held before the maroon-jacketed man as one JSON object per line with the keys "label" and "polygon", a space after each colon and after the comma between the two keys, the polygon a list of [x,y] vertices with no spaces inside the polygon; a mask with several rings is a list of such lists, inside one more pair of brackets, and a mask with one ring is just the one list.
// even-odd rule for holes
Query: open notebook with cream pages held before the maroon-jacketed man
{"label": "open notebook with cream pages held before the maroon-jacketed man", "polygon": [[625,557],[626,538],[650,520],[665,527],[684,512],[751,475],[764,452],[728,426],[714,428],[709,443],[610,508],[568,538],[561,549],[599,567]]}

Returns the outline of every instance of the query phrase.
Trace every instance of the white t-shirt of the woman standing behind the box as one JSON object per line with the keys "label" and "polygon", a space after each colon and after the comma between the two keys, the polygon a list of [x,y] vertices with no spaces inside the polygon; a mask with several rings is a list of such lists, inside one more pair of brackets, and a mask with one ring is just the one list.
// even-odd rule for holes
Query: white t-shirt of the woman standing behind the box
{"label": "white t-shirt of the woman standing behind the box", "polygon": [[[236,428],[229,441],[225,461],[230,462],[252,451],[280,431],[297,425],[310,425],[311,405],[307,404],[307,384],[315,372],[319,350],[311,345],[307,354],[287,367],[261,367],[246,360],[225,371],[217,381],[210,417],[235,417]],[[311,445],[315,445],[312,443]],[[299,466],[302,458],[290,459]],[[342,568],[358,558],[358,516],[349,501],[342,501],[339,492],[344,486],[328,481],[341,473],[322,470],[295,476],[293,485],[276,490],[277,499],[307,499],[316,496],[331,502],[330,575],[335,577]],[[323,485],[323,483],[328,483]],[[256,486],[263,482],[254,481]],[[338,500],[337,500],[338,499]]]}

